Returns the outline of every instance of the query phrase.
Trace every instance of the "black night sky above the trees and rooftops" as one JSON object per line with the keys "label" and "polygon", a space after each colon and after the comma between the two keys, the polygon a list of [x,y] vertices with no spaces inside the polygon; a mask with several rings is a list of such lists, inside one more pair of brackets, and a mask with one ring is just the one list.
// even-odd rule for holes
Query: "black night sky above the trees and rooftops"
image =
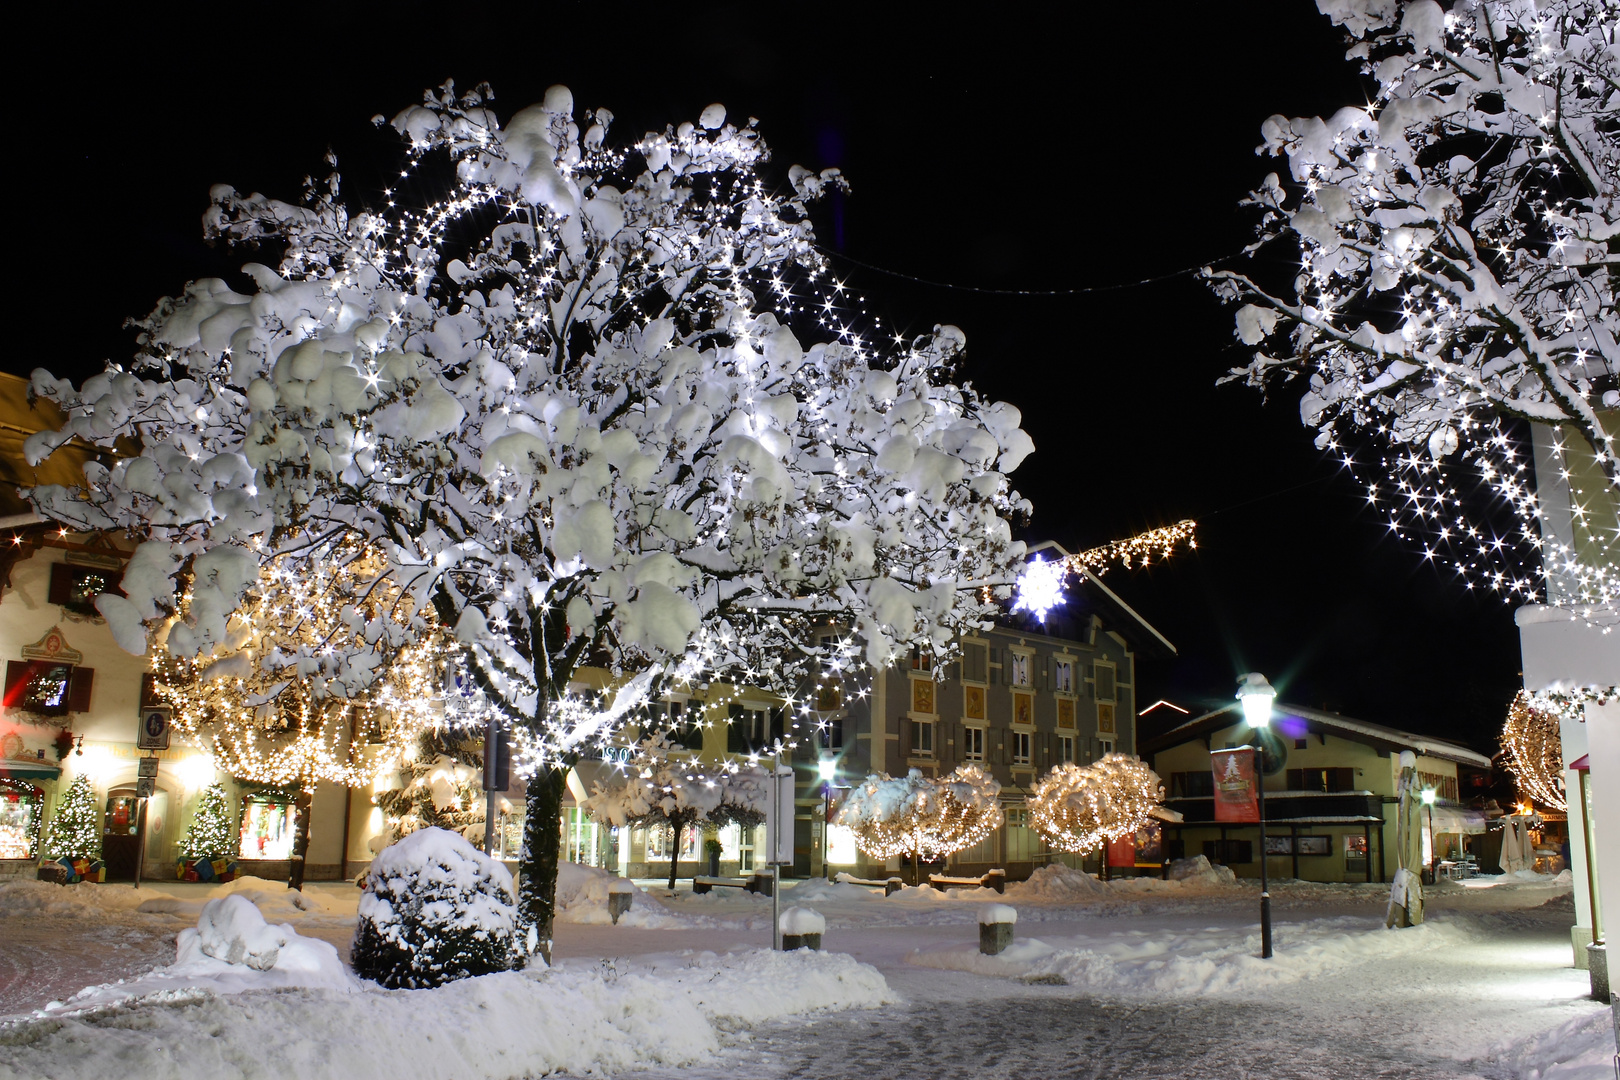
{"label": "black night sky above the trees and rooftops", "polygon": [[[761,120],[778,176],[844,168],[854,191],[818,217],[829,246],[1029,290],[1236,251],[1236,202],[1277,168],[1254,155],[1260,121],[1366,100],[1309,0],[776,6],[327,3],[290,21],[164,5],[89,21],[57,5],[6,45],[23,78],[5,369],[83,377],[130,355],[126,316],[249,259],[201,243],[212,183],[295,199],[332,147],[350,194],[373,196],[395,144],[369,118],[446,78],[489,81],[502,117],[565,83],[624,139],[723,102]],[[1252,667],[1285,699],[1495,750],[1518,682],[1511,607],[1388,534],[1312,447],[1298,392],[1262,405],[1217,389],[1246,356],[1197,282],[991,296],[836,266],[886,324],[962,327],[967,377],[1024,410],[1029,538],[1077,551],[1197,518],[1197,552],[1106,576],[1179,648],[1144,664],[1144,701],[1230,699]]]}

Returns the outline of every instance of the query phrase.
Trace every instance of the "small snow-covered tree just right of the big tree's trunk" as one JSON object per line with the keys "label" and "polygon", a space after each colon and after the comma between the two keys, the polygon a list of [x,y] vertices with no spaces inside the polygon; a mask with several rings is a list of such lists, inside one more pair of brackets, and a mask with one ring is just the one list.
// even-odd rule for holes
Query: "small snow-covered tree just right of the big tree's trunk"
{"label": "small snow-covered tree just right of the big tree's trunk", "polygon": [[708,769],[693,758],[677,758],[661,732],[635,745],[620,776],[591,784],[585,813],[614,827],[661,829],[669,837],[669,887],[680,866],[680,832],[703,824],[747,824],[765,819],[766,774],[757,766],[727,763]]}

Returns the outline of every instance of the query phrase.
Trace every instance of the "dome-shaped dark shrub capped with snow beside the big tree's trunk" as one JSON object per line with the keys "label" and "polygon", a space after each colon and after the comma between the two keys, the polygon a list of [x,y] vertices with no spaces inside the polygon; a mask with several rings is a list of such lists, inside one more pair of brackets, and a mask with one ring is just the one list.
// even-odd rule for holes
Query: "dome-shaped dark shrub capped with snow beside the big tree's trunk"
{"label": "dome-shaped dark shrub capped with snow beside the big tree's trunk", "polygon": [[444,829],[420,829],[366,871],[352,962],[390,988],[441,986],[522,962],[512,874]]}

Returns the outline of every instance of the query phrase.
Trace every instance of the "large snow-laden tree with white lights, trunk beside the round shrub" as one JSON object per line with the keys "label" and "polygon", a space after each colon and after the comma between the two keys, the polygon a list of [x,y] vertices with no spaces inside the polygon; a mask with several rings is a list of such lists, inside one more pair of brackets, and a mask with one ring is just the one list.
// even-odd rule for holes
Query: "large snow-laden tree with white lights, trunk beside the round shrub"
{"label": "large snow-laden tree with white lights, trunk beside the round shrub", "polygon": [[[564,87],[504,125],[489,102],[446,86],[395,117],[408,180],[366,209],[335,176],[305,206],[215,188],[207,236],[279,266],[162,301],[128,369],[36,372],[68,423],[29,455],[138,439],[87,489],[32,492],[144,541],[104,606],[136,648],[188,573],[212,591],[178,648],[224,640],[245,576],[220,552],[387,552],[526,740],[520,905],[549,952],[567,766],[671,670],[805,685],[818,620],[873,662],[948,649],[1013,576],[1006,474],[1032,444],[953,382],[954,327],[888,351],[789,329],[815,329],[808,202],[836,172],[768,183],[755,123],[719,105],[616,146]],[[637,677],[598,709],[567,693],[582,664]]]}

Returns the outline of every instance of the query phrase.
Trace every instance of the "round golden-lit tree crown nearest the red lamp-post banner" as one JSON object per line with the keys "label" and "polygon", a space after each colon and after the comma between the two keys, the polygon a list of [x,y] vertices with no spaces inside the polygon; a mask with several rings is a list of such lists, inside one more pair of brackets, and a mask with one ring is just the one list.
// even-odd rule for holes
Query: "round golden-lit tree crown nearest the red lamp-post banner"
{"label": "round golden-lit tree crown nearest the red lamp-post banner", "polygon": [[1145,826],[1165,798],[1163,784],[1140,758],[1105,755],[1068,761],[1035,782],[1027,805],[1035,831],[1063,852],[1087,853]]}

